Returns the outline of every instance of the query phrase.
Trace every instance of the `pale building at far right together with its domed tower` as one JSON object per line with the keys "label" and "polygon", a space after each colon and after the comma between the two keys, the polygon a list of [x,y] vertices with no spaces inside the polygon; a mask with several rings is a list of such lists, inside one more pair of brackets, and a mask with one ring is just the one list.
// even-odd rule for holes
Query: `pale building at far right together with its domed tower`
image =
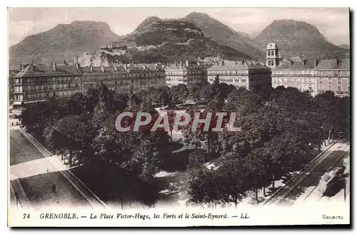
{"label": "pale building at far right together with its domed tower", "polygon": [[[267,51],[271,44],[268,44]],[[277,47],[274,53],[278,53]],[[271,55],[269,56],[267,52],[266,63],[270,60]],[[334,92],[336,96],[350,94],[349,58],[304,60],[293,57],[271,68],[273,87],[296,87],[298,90],[311,92],[311,95],[318,95],[328,90]]]}

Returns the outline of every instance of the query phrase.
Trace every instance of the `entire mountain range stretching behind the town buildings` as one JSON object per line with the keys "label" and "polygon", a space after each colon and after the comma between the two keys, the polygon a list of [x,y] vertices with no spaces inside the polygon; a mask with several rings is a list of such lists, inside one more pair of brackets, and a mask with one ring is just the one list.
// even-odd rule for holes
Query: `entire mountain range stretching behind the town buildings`
{"label": "entire mountain range stretching behind the town buildings", "polygon": [[265,48],[271,41],[278,44],[283,56],[304,58],[348,56],[346,46],[335,46],[303,21],[279,20],[253,38],[208,16],[193,12],[184,18],[146,18],[125,36],[118,36],[108,24],[94,21],[74,21],[59,24],[49,31],[27,36],[9,48],[9,64],[72,62],[76,55],[99,50],[100,46],[119,39],[136,41],[138,48],[124,55],[108,54],[108,61],[154,63],[172,60],[194,60],[198,56],[221,55],[224,59],[253,58],[264,60]]}

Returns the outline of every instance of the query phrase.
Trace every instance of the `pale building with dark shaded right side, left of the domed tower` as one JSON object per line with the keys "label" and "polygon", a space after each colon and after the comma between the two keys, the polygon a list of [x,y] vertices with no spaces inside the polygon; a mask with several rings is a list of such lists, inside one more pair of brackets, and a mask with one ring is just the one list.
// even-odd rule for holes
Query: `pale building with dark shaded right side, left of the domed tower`
{"label": "pale building with dark shaded right side, left of the domed tower", "polygon": [[208,68],[208,83],[218,75],[220,83],[244,87],[271,87],[271,70],[263,63],[248,60],[223,60]]}

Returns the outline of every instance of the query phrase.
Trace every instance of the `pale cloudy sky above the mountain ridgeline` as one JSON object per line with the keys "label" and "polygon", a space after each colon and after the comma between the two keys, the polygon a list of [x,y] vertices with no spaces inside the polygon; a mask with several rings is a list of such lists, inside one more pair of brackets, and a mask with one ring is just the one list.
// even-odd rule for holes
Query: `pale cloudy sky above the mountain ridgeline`
{"label": "pale cloudy sky above the mountain ridgeline", "polygon": [[9,46],[59,23],[103,21],[121,36],[134,31],[149,16],[181,18],[193,11],[206,13],[251,36],[258,35],[274,20],[306,21],[331,43],[350,44],[348,8],[9,8]]}

